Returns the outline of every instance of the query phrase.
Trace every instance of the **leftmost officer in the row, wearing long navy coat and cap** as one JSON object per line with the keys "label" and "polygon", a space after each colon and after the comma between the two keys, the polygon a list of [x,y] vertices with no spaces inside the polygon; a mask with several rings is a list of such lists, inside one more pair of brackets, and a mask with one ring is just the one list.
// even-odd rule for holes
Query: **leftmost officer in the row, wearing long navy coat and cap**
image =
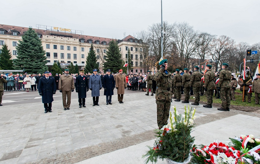
{"label": "leftmost officer in the row, wearing long navy coat and cap", "polygon": [[42,96],[42,102],[44,104],[45,112],[51,111],[51,103],[53,102],[53,94],[56,93],[56,84],[53,77],[50,76],[50,72],[44,72],[45,77],[40,78],[39,81],[39,94]]}

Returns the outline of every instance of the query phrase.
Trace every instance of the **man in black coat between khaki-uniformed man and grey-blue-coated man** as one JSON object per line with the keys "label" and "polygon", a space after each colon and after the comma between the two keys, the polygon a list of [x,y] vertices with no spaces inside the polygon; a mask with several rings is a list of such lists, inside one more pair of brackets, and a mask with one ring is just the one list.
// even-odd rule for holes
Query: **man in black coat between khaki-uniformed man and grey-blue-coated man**
{"label": "man in black coat between khaki-uniformed man and grey-blue-coated man", "polygon": [[76,77],[75,88],[78,92],[79,107],[86,107],[85,98],[88,91],[88,78],[84,75],[85,70],[80,70],[79,76]]}

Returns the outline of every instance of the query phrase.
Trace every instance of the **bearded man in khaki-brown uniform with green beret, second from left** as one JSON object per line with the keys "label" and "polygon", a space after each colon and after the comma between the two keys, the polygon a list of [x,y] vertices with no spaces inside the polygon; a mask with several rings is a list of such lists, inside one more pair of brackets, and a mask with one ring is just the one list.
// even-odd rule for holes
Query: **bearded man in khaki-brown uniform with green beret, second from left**
{"label": "bearded man in khaki-brown uniform with green beret, second from left", "polygon": [[74,79],[73,76],[69,74],[69,71],[69,69],[65,69],[65,74],[61,75],[59,80],[59,90],[62,93],[62,103],[64,110],[70,110],[71,92],[73,92],[75,89]]}

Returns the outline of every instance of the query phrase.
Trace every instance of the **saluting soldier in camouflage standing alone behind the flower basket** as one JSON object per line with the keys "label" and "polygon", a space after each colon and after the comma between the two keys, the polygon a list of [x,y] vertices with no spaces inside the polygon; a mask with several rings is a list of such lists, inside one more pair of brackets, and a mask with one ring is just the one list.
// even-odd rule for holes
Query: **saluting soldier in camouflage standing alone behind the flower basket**
{"label": "saluting soldier in camouflage standing alone behind the flower basket", "polygon": [[172,74],[167,71],[167,59],[159,63],[161,69],[154,74],[156,81],[155,99],[157,104],[157,124],[159,129],[168,124],[170,115],[171,98],[172,98]]}

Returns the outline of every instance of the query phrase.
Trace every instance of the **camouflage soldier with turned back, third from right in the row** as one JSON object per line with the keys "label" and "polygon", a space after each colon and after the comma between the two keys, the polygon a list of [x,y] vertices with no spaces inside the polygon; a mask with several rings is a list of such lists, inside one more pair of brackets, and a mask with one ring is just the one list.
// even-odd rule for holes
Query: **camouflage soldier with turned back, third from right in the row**
{"label": "camouflage soldier with turned back, third from right in the row", "polygon": [[192,87],[193,94],[195,96],[195,102],[191,103],[192,105],[199,105],[199,88],[200,88],[200,80],[201,80],[201,73],[199,72],[199,67],[195,66],[194,67],[194,72],[191,75],[190,78],[190,87]]}

